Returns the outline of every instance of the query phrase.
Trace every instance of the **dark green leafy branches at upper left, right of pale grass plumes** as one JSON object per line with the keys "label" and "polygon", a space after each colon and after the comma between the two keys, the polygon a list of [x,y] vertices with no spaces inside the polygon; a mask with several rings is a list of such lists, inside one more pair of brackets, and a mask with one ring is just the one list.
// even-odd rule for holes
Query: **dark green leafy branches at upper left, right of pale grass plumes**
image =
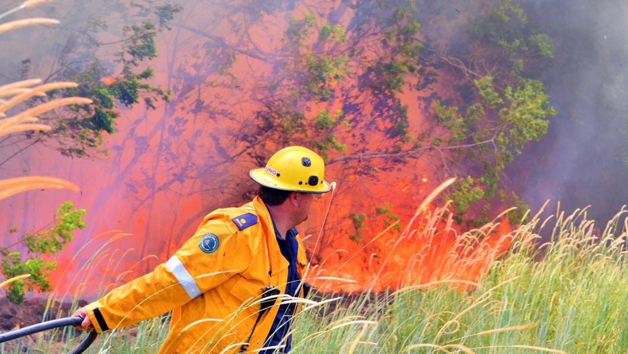
{"label": "dark green leafy branches at upper left, right of pale grass plumes", "polygon": [[[115,60],[121,65],[121,72],[115,77],[109,75],[98,58],[94,58],[87,71],[70,78],[79,86],[67,89],[62,96],[90,97],[94,104],[76,106],[55,117],[57,124],[47,135],[60,142],[59,150],[63,155],[84,157],[94,152],[106,154],[106,150],[99,148],[103,142],[102,133],[114,133],[119,116],[116,103],[132,108],[143,100],[147,109],[156,109],[155,103],[160,99],[170,101],[169,91],[149,84],[154,70],[149,66],[139,69],[139,65],[157,57],[154,37],[158,31],[148,21],[124,28],[126,39],[122,41],[122,50],[116,54]],[[102,79],[104,77],[109,81]]]}

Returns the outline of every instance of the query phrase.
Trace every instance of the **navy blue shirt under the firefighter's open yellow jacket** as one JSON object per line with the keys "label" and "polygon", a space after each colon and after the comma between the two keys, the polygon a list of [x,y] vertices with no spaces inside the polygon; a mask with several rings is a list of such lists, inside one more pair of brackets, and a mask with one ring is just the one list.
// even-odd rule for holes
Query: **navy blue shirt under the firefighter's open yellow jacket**
{"label": "navy blue shirt under the firefighter's open yellow jacket", "polygon": [[[301,281],[301,276],[296,270],[296,252],[299,249],[299,243],[296,241],[296,235],[298,235],[299,231],[296,230],[296,228],[291,228],[286,233],[286,238],[282,238],[281,235],[279,235],[277,226],[274,224],[274,220],[273,226],[277,243],[279,244],[279,250],[281,250],[281,255],[283,255],[283,257],[288,260],[288,263],[290,263],[288,266],[288,279],[286,279],[286,292],[284,292],[284,294],[295,296],[296,290],[299,287],[299,282]],[[288,353],[290,351],[292,345],[292,335],[288,336],[288,338],[283,342],[282,340],[286,336],[286,333],[290,331],[295,309],[296,304],[294,303],[279,305],[279,311],[277,311],[277,316],[275,317],[273,325],[271,326],[271,331],[268,333],[268,337],[264,342],[264,346],[276,346],[281,343],[284,347],[279,349],[262,350],[260,351],[261,354]]]}

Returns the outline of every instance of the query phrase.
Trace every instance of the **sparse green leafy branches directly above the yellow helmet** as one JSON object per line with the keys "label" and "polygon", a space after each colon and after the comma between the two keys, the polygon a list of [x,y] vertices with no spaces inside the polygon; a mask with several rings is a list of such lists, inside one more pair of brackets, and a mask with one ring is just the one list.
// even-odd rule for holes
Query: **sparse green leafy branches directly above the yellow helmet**
{"label": "sparse green leafy branches directly above the yellow helmet", "polygon": [[306,115],[305,105],[330,101],[338,82],[349,74],[349,57],[332,54],[332,48],[345,41],[342,26],[323,23],[318,30],[315,17],[309,14],[290,20],[284,37],[284,69],[280,81],[269,87],[278,95],[266,102],[268,111],[259,114],[263,130],[280,133],[274,137],[286,142],[303,136],[325,157],[330,150],[344,152],[346,145],[338,139],[338,130],[350,128],[344,112],[323,108]]}

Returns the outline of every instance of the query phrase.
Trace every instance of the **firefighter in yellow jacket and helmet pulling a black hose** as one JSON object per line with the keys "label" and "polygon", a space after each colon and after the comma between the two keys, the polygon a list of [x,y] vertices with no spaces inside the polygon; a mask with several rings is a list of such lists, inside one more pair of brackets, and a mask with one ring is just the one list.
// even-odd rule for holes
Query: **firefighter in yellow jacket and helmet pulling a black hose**
{"label": "firefighter in yellow jacket and helmet pulling a black hose", "polygon": [[330,184],[323,159],[304,147],[279,150],[249,175],[258,196],[205,216],[167,262],[78,309],[77,328],[102,332],[172,311],[159,354],[290,351],[300,306],[287,296],[305,297],[309,288],[295,226]]}

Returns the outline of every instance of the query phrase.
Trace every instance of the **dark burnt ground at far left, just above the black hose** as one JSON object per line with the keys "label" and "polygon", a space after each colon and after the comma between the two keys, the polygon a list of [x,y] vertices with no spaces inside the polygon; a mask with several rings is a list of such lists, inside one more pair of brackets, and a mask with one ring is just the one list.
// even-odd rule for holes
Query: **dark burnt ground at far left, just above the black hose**
{"label": "dark burnt ground at far left, just above the black hose", "polygon": [[[86,301],[79,301],[78,306],[85,306]],[[23,328],[31,324],[70,316],[72,303],[54,304],[46,312],[46,299],[27,299],[16,305],[6,297],[0,298],[0,331]],[[46,313],[46,318],[44,318]]]}

